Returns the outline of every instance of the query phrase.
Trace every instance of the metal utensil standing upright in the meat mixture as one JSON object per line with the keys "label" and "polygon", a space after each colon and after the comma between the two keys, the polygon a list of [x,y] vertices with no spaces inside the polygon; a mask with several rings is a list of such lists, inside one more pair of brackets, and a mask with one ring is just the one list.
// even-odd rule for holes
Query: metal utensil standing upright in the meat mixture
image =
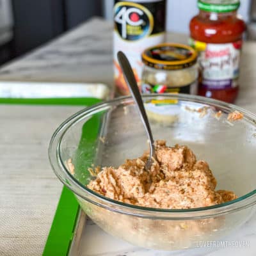
{"label": "metal utensil standing upright in the meat mixture", "polygon": [[129,60],[127,60],[124,52],[122,52],[122,51],[119,51],[117,53],[117,58],[120,63],[120,67],[122,68],[122,71],[124,73],[125,81],[129,87],[131,94],[132,94],[132,98],[136,102],[136,106],[140,113],[141,120],[142,120],[145,130],[147,132],[148,141],[149,141],[149,157],[148,157],[148,161],[146,163],[145,168],[146,168],[146,170],[150,170],[150,167],[153,163],[152,157],[154,157],[156,159],[156,152],[155,152],[155,147],[154,147],[154,139],[153,139],[150,125],[148,122],[148,117],[147,117],[147,114],[146,114],[146,111],[144,108],[144,104],[143,104],[143,101],[142,101],[142,98],[140,95],[140,90],[138,88],[138,84],[134,77]]}

